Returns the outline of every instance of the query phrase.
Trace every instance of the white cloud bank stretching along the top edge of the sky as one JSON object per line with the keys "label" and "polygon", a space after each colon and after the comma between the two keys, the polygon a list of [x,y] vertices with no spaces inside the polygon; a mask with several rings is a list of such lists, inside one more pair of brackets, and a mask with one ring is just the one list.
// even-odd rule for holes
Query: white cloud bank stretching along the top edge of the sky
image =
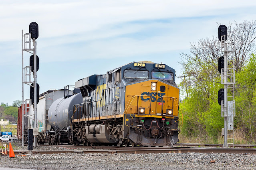
{"label": "white cloud bank stretching along the top edge of the sky", "polygon": [[[236,3],[237,2],[237,3]],[[224,15],[235,8],[252,7],[254,1],[14,1],[2,4],[0,23],[5,34],[0,41],[17,40],[20,30],[28,31],[31,21],[38,22],[40,38],[81,34],[109,25],[141,20],[193,18]],[[223,10],[225,9],[225,10]],[[216,13],[216,11],[218,11]]]}

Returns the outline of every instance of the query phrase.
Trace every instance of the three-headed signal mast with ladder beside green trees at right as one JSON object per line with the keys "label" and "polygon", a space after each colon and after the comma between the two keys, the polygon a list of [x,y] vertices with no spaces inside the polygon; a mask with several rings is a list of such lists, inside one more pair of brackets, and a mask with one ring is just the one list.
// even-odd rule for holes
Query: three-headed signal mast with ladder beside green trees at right
{"label": "three-headed signal mast with ladder beside green trees at right", "polygon": [[[223,147],[228,147],[228,144],[233,144],[234,146],[234,117],[236,116],[236,102],[234,101],[236,74],[233,59],[235,36],[230,36],[230,41],[226,42],[228,39],[228,29],[225,25],[220,25],[218,28],[218,38],[220,40],[220,51],[224,52],[224,56],[221,56],[218,61],[221,84],[224,85],[224,89],[218,91],[218,103],[221,106],[220,115],[224,117],[224,128],[222,128],[222,135],[224,135]],[[228,140],[230,141],[229,143]]]}

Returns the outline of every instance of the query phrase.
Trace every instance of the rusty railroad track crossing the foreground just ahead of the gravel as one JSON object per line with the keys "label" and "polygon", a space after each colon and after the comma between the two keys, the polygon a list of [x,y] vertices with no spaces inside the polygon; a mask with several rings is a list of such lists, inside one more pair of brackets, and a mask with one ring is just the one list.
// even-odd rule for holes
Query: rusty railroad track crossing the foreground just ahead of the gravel
{"label": "rusty railroad track crossing the foreground just ahead of the gravel", "polygon": [[[143,147],[137,146],[133,147],[117,147],[117,146],[73,146],[73,145],[39,145],[39,146],[55,146],[66,148],[63,150],[51,150],[51,151],[37,151],[32,150],[31,153],[40,154],[53,154],[53,153],[129,153],[129,154],[142,154],[142,153],[186,153],[186,152],[198,152],[198,153],[237,153],[237,154],[256,154],[256,145],[234,145],[240,148],[218,148],[221,144],[188,144],[188,143],[178,143],[174,147]],[[183,147],[179,147],[183,146]],[[186,147],[185,147],[186,146]],[[200,146],[200,147],[189,147],[189,146]],[[208,146],[208,147],[207,147]],[[217,148],[213,148],[217,147]],[[246,148],[247,147],[247,148]],[[92,150],[76,150],[75,148],[88,148]],[[27,154],[28,151],[15,150],[15,154],[22,153]]]}

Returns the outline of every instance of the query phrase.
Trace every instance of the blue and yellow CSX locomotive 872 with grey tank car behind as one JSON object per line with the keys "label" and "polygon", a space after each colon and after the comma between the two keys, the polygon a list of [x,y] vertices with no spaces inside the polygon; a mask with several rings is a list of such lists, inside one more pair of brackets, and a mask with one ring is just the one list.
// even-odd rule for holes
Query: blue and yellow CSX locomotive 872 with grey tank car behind
{"label": "blue and yellow CSX locomotive 872 with grey tank car behind", "polygon": [[131,62],[78,80],[48,110],[45,142],[74,145],[173,146],[182,125],[175,70]]}

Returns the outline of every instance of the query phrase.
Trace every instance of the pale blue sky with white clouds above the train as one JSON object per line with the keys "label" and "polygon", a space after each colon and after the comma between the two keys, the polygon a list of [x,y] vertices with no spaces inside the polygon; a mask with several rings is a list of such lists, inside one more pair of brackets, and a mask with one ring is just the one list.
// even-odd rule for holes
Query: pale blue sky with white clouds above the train
{"label": "pale blue sky with white clouds above the train", "polygon": [[[255,0],[1,0],[0,103],[22,100],[22,30],[31,22],[43,93],[131,61],[162,62],[181,76],[190,43],[218,36],[218,24],[256,20],[255,9]],[[24,99],[29,93],[24,85]]]}

